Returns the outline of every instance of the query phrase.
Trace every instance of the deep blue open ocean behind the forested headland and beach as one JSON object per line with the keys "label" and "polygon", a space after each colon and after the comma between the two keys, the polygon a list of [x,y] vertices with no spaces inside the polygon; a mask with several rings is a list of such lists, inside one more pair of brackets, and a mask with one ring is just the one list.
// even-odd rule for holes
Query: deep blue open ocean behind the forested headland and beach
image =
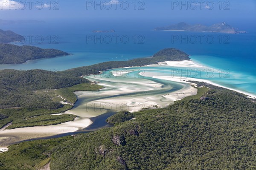
{"label": "deep blue open ocean behind the forested headland and beach", "polygon": [[[162,23],[163,24],[163,23]],[[111,21],[46,22],[39,24],[1,25],[26,37],[16,45],[56,48],[70,56],[38,59],[24,64],[0,65],[1,69],[44,69],[61,71],[106,61],[126,61],[150,57],[163,48],[178,48],[190,55],[192,61],[227,71],[229,78],[210,80],[226,87],[256,94],[256,32],[247,28],[246,34],[221,34],[186,31],[154,31],[159,23],[141,24]],[[111,30],[93,33],[93,30]]]}

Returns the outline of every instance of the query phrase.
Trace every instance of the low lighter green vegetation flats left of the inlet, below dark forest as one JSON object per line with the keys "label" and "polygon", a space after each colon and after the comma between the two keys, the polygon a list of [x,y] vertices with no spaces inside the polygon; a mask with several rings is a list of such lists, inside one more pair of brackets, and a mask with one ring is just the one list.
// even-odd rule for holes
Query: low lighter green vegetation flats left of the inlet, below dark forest
{"label": "low lighter green vegetation flats left of the inlet, below dark forest", "polygon": [[[47,96],[49,102],[59,103],[63,101],[61,95],[67,101],[75,103],[77,98],[73,93],[75,91],[97,91],[103,88],[100,85],[81,83],[78,85],[71,86],[69,88],[61,88],[57,90],[47,90],[47,91],[35,91],[35,95],[41,99],[42,96]],[[40,101],[42,102],[42,101]],[[44,103],[45,104],[45,103]],[[62,105],[62,104],[61,104]],[[33,105],[34,106],[34,105]],[[7,127],[8,129],[13,129],[17,127],[32,127],[32,126],[45,126],[45,125],[56,125],[63,122],[72,121],[76,116],[65,114],[65,115],[51,115],[56,113],[63,113],[71,109],[72,105],[63,105],[64,107],[58,109],[38,109],[38,108],[9,108],[0,110],[0,128],[9,122],[12,125]]]}

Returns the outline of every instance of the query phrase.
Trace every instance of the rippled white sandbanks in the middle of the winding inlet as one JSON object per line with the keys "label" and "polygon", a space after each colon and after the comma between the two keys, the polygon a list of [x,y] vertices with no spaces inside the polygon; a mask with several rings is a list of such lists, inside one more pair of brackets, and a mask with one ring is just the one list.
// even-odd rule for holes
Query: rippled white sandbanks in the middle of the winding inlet
{"label": "rippled white sandbanks in the middle of the winding inlet", "polygon": [[[191,64],[191,62],[184,62],[184,64]],[[154,94],[154,95],[141,95],[141,96],[133,96],[133,95],[125,95],[125,96],[116,96],[120,94],[131,94],[143,91],[156,91],[163,89],[163,84],[157,83],[148,79],[136,78],[134,80],[131,78],[125,78],[121,76],[121,71],[114,71],[115,77],[97,77],[96,81],[103,81],[99,83],[99,85],[103,85],[106,88],[101,91],[94,92],[94,95],[97,96],[112,96],[103,99],[93,100],[90,102],[91,106],[97,106],[102,108],[102,110],[96,108],[88,109],[86,106],[88,103],[84,103],[84,105],[79,105],[77,108],[68,111],[67,113],[81,113],[86,114],[87,117],[94,117],[102,114],[102,112],[106,112],[108,110],[112,111],[140,111],[142,108],[154,108],[155,106],[163,108],[167,105],[173,103],[175,100],[183,99],[186,96],[197,94],[197,89],[193,88],[190,85],[183,85],[183,88],[174,91],[169,94]],[[130,71],[129,71],[130,73]],[[116,77],[117,76],[117,77]],[[119,78],[118,78],[119,76]],[[144,75],[143,75],[144,76]],[[143,77],[142,76],[142,77]],[[91,77],[95,78],[95,77]],[[111,83],[110,83],[111,82]],[[169,87],[170,88],[170,87]],[[90,92],[79,92],[77,94],[79,98],[90,96]],[[87,112],[85,113],[85,110]]]}

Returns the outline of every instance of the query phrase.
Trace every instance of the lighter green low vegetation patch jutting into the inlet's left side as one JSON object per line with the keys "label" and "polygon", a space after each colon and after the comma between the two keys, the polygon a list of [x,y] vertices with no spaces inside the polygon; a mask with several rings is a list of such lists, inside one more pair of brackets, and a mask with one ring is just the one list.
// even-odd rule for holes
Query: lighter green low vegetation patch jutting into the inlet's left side
{"label": "lighter green low vegetation patch jutting into the inlet's left side", "polygon": [[75,91],[97,91],[101,88],[104,87],[91,83],[81,83],[72,87],[58,89],[55,93],[64,97],[67,100],[65,102],[75,103],[77,100],[76,94],[74,94]]}

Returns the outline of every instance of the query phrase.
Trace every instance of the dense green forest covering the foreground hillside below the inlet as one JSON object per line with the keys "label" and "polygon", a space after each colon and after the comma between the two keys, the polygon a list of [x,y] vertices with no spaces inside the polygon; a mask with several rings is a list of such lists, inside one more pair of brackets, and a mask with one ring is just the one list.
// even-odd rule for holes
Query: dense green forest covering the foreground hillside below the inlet
{"label": "dense green forest covering the foreground hillside below the inlet", "polygon": [[[108,118],[116,122],[114,127],[48,145],[51,148],[44,151],[49,153],[47,156],[41,147],[23,142],[19,144],[24,150],[23,164],[20,146],[13,145],[9,150],[17,154],[17,161],[13,164],[16,156],[11,159],[9,151],[3,153],[0,168],[26,169],[45,156],[51,159],[51,170],[254,170],[256,103],[235,91],[198,83],[201,85],[211,89],[167,108],[140,111],[133,116],[117,113]],[[44,146],[45,141],[41,142]],[[36,158],[29,157],[31,148],[38,153]]]}

